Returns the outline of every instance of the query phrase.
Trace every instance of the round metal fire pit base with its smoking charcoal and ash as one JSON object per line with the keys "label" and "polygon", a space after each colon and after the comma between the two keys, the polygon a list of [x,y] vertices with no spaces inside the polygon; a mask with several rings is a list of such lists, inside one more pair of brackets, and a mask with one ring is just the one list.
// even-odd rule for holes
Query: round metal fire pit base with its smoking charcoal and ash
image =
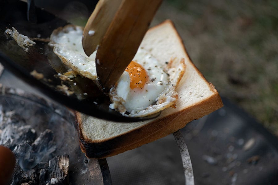
{"label": "round metal fire pit base with its smoking charcoal and ash", "polygon": [[103,181],[103,161],[81,152],[71,112],[22,90],[0,88],[0,145],[16,157],[12,185]]}

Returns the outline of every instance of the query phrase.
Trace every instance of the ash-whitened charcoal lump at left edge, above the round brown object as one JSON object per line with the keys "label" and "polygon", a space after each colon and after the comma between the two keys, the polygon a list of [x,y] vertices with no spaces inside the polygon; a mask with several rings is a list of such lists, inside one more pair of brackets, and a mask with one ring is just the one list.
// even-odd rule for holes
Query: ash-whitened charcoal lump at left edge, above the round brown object
{"label": "ash-whitened charcoal lump at left edge, above the round brown object", "polygon": [[16,145],[27,143],[31,144],[36,139],[36,130],[30,125],[16,126],[7,125],[0,135],[0,145],[6,146],[13,150]]}

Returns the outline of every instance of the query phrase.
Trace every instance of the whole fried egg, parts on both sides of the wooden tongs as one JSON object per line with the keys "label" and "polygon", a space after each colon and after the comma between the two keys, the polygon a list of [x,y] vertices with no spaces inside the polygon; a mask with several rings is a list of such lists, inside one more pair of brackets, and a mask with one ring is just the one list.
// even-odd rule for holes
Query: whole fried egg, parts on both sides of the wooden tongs
{"label": "whole fried egg, parts on both sides of the wooden tongs", "polygon": [[[88,57],[82,48],[82,27],[67,25],[53,31],[49,45],[61,61],[97,85],[95,51]],[[176,88],[185,72],[184,60],[158,61],[140,47],[118,82],[110,89],[111,109],[128,117],[143,117],[175,108]],[[178,63],[178,64],[177,64]],[[174,65],[175,64],[175,65]]]}

